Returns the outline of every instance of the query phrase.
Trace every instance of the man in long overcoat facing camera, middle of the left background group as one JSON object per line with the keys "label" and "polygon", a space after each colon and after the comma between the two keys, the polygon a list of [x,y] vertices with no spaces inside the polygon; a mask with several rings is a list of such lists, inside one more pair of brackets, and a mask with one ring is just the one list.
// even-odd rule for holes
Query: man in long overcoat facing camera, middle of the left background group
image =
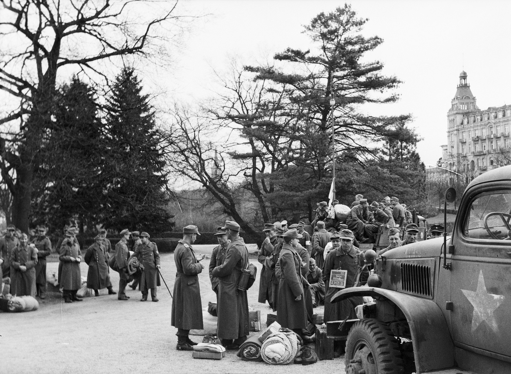
{"label": "man in long overcoat facing camera, middle of the left background group", "polygon": [[80,246],[75,243],[74,232],[69,229],[66,232],[66,239],[62,241],[59,248],[59,260],[62,264],[62,271],[59,278],[60,287],[64,289],[62,297],[65,302],[82,301],[76,295],[82,286],[82,274],[80,271]]}

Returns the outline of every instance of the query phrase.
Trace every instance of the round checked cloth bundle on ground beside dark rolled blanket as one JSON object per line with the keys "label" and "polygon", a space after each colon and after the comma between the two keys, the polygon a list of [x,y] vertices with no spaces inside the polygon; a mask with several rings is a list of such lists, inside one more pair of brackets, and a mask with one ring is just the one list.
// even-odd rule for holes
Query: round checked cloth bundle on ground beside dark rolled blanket
{"label": "round checked cloth bundle on ground beside dark rolled blanket", "polygon": [[261,357],[270,365],[287,365],[298,352],[298,339],[293,332],[271,334],[261,346]]}

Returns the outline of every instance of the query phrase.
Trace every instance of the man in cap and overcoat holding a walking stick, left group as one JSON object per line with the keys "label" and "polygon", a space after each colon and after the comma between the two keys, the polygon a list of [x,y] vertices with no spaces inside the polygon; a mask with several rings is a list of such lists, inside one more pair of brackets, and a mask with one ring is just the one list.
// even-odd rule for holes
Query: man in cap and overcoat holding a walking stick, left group
{"label": "man in cap and overcoat holding a walking stick, left group", "polygon": [[137,245],[133,255],[140,263],[140,290],[142,298],[140,301],[146,301],[149,289],[151,289],[151,299],[158,301],[156,297],[156,287],[160,285],[158,269],[160,268],[160,258],[156,243],[149,241],[149,234],[142,232],[140,239],[142,243]]}

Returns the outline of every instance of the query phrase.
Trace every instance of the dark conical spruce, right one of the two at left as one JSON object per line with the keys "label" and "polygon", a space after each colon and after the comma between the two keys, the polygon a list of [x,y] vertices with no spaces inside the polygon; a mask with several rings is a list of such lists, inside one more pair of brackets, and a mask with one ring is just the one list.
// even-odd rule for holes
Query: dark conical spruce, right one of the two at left
{"label": "dark conical spruce, right one of the two at left", "polygon": [[170,230],[173,217],[165,206],[167,174],[162,134],[155,124],[149,96],[133,68],[124,68],[108,97],[108,149],[104,211],[106,225],[123,229]]}

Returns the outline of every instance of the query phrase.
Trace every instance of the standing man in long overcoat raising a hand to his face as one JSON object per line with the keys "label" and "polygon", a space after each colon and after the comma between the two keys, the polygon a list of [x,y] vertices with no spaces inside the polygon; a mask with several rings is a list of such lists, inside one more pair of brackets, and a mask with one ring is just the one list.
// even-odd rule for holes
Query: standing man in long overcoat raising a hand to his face
{"label": "standing man in long overcoat raising a hand to his face", "polygon": [[273,266],[273,248],[278,243],[278,238],[275,234],[275,225],[273,223],[265,223],[263,232],[266,235],[261,249],[259,250],[257,259],[260,264],[263,265],[261,270],[261,277],[259,281],[259,298],[258,301],[261,303],[268,303],[270,308],[273,307],[273,296],[271,287],[271,274]]}

